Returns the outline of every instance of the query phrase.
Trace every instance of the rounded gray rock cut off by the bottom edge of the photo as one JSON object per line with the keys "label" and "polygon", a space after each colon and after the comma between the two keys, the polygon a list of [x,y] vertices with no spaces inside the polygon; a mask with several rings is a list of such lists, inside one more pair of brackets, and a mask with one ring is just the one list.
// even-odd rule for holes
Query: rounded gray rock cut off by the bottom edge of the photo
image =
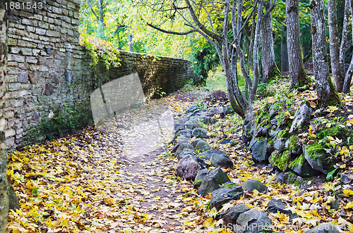
{"label": "rounded gray rock cut off by the bottom edge of the photo", "polygon": [[260,233],[267,232],[272,225],[270,218],[263,210],[248,210],[237,219],[234,232]]}

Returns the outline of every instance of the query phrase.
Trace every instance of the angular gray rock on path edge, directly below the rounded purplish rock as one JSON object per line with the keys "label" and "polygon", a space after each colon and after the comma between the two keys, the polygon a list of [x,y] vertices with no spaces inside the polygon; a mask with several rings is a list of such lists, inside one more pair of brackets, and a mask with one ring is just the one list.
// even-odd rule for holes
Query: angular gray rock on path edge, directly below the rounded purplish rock
{"label": "angular gray rock on path edge, directly below the rounded purplish rock", "polygon": [[198,194],[201,196],[212,194],[213,191],[219,189],[222,184],[227,182],[230,182],[229,177],[227,173],[223,172],[222,168],[210,170],[210,172],[203,177],[200,188],[198,189]]}

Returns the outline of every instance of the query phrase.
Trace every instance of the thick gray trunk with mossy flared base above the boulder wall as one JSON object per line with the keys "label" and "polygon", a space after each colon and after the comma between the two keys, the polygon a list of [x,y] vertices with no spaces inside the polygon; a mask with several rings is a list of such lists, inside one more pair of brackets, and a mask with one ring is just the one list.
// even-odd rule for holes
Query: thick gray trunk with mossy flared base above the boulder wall
{"label": "thick gray trunk with mossy flared base above the boulder wall", "polygon": [[323,0],[311,0],[311,35],[313,40],[313,72],[321,106],[340,105],[340,96],[328,70],[326,51],[325,7]]}

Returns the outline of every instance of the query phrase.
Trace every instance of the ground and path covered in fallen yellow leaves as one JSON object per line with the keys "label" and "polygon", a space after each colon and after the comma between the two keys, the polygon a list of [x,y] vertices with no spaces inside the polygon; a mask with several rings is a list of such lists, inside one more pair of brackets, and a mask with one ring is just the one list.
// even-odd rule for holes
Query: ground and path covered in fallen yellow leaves
{"label": "ground and path covered in fallen yellow leaves", "polygon": [[[20,210],[10,213],[8,232],[229,232],[222,220],[213,219],[217,213],[235,203],[265,210],[271,199],[285,201],[299,217],[289,220],[288,215],[270,213],[277,232],[304,232],[320,222],[352,232],[353,191],[340,184],[339,177],[308,180],[306,189],[280,184],[273,170],[253,164],[241,144],[242,121],[236,115],[205,126],[208,142],[232,158],[234,168],[227,169],[232,182],[256,179],[268,189],[246,192],[220,211],[210,210],[210,196],[199,197],[191,182],[174,176],[177,158],[169,153],[172,145],[165,146],[172,139],[174,119],[191,104],[218,105],[192,92],[149,101],[99,128],[9,154],[8,180]],[[301,98],[313,98],[315,104],[308,93]],[[225,139],[229,141],[224,144]]]}

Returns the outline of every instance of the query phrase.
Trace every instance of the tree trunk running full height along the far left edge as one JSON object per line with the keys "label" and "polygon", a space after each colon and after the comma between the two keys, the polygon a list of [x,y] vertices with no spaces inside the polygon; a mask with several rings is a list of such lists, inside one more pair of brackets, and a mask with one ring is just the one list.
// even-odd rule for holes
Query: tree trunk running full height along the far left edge
{"label": "tree trunk running full height along the far left edge", "polygon": [[4,94],[6,81],[7,12],[0,0],[0,232],[6,232],[8,218],[7,156],[5,144]]}

